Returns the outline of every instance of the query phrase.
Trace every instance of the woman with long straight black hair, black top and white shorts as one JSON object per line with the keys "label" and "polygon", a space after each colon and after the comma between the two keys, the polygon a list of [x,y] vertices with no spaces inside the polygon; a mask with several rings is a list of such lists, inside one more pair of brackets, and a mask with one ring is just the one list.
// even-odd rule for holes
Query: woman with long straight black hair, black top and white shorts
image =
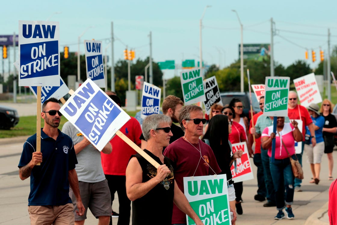
{"label": "woman with long straight black hair, black top and white shorts", "polygon": [[[233,186],[231,166],[237,158],[241,158],[242,150],[232,153],[232,147],[228,141],[228,135],[231,133],[231,120],[225,115],[215,115],[209,122],[208,130],[205,133],[203,140],[211,146],[216,161],[221,169],[220,174],[226,174],[228,200],[231,211],[235,210],[235,189]],[[233,223],[232,221],[232,224]]]}

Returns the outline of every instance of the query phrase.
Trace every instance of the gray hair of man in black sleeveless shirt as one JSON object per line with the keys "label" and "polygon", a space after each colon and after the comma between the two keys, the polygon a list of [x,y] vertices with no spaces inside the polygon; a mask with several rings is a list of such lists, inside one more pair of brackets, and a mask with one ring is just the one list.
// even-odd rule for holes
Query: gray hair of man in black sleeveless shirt
{"label": "gray hair of man in black sleeveless shirt", "polygon": [[156,130],[159,126],[159,123],[167,122],[171,123],[172,119],[169,116],[165,116],[163,114],[151,114],[143,120],[142,131],[145,140],[150,138],[150,131]]}

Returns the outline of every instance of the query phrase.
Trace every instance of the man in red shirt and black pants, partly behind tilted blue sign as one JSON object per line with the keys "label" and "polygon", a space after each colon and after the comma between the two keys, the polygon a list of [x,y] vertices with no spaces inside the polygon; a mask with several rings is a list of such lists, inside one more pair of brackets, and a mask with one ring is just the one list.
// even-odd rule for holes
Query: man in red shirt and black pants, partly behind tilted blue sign
{"label": "man in red shirt and black pants, partly behind tilted blue sign", "polygon": [[[117,105],[121,105],[121,100],[117,95],[109,96]],[[138,120],[134,117],[131,117],[131,119],[122,126],[120,131],[136,145],[141,146],[141,139],[139,139],[139,137],[142,134],[142,129]],[[129,224],[131,201],[126,196],[125,171],[131,155],[137,154],[137,152],[117,135],[110,140],[110,143],[113,149],[112,152],[110,154],[101,153],[102,167],[105,178],[108,180],[111,204],[114,201],[116,191],[118,194],[119,217],[117,225]],[[110,224],[112,224],[111,220]]]}

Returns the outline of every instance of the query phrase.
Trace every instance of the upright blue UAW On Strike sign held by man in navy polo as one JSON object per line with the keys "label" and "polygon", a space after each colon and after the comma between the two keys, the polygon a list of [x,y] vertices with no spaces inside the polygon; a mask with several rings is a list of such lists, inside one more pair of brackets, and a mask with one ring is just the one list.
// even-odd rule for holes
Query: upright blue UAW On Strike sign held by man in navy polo
{"label": "upright blue UAW On Strike sign held by man in navy polo", "polygon": [[60,86],[58,22],[19,21],[19,86]]}

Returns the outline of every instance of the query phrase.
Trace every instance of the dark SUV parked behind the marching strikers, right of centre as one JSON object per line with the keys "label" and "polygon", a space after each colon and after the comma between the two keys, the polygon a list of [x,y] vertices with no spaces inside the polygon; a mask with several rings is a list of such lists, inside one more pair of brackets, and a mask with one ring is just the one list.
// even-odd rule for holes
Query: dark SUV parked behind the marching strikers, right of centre
{"label": "dark SUV parked behind the marching strikers, right of centre", "polygon": [[[245,107],[243,109],[243,114],[247,116],[248,120],[251,119],[251,113],[250,113],[250,100],[249,100],[249,92],[221,92],[220,93],[221,100],[223,106],[226,106],[231,102],[233,98],[238,98],[241,100],[243,106]],[[252,93],[252,106],[253,106],[253,114],[258,113],[261,111],[259,102],[256,99],[256,96],[254,93]]]}

